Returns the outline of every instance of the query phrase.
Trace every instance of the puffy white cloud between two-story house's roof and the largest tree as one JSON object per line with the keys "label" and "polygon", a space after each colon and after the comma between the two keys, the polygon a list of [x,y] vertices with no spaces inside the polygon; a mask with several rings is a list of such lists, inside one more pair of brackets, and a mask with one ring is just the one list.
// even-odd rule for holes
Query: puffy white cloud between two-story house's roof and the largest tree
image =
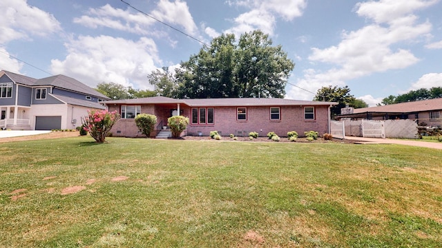
{"label": "puffy white cloud between two-story house's roof and the largest tree", "polygon": [[146,76],[161,63],[153,40],[81,36],[65,44],[68,55],[64,61],[51,61],[53,74],[66,74],[90,87],[113,82],[145,89]]}

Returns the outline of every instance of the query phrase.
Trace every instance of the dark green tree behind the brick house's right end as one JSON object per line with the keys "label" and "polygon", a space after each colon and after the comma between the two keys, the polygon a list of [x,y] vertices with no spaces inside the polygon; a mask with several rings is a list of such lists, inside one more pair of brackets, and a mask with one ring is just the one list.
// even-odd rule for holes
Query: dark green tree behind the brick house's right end
{"label": "dark green tree behind the brick house's right end", "polygon": [[340,109],[346,105],[349,105],[350,107],[359,107],[359,105],[362,103],[364,107],[367,106],[367,103],[362,100],[356,101],[355,97],[350,94],[350,89],[347,85],[345,87],[332,85],[322,87],[318,90],[318,92],[316,92],[316,96],[314,96],[313,101],[329,101],[338,103],[338,105],[334,105],[330,108],[332,116],[340,114]]}

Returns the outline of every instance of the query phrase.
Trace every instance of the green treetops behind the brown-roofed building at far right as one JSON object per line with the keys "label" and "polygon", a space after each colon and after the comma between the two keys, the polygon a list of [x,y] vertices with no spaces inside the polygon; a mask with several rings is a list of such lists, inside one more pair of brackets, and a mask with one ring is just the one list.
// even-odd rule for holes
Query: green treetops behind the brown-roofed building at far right
{"label": "green treetops behind the brown-roofed building at far right", "polygon": [[442,87],[432,87],[430,90],[421,88],[419,90],[410,90],[405,94],[398,94],[398,96],[387,96],[378,105],[389,105],[395,103],[406,103],[410,101],[421,101],[428,99],[436,99],[442,97]]}

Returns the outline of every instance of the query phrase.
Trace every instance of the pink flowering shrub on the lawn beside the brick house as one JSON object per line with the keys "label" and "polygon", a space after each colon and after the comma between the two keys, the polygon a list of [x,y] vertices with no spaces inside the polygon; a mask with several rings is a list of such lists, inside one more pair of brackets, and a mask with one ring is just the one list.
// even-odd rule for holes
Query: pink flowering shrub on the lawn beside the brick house
{"label": "pink flowering shrub on the lawn beside the brick house", "polygon": [[97,143],[104,143],[104,139],[113,125],[119,120],[117,111],[88,110],[88,116],[81,117],[83,129],[92,136]]}

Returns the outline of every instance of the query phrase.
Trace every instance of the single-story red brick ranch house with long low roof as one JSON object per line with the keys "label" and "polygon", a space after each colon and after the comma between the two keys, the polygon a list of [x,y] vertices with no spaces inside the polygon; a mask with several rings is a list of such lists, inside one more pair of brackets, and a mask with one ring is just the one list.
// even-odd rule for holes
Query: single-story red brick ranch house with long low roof
{"label": "single-story red brick ranch house with long low roof", "polygon": [[[289,99],[171,99],[164,96],[104,102],[109,111],[117,111],[122,118],[111,132],[114,136],[143,136],[135,125],[140,113],[157,116],[155,130],[160,132],[171,116],[189,117],[189,125],[182,135],[209,136],[218,131],[223,136],[247,136],[258,132],[266,136],[275,132],[287,136],[296,131],[300,136],[307,131],[320,135],[330,131],[330,107],[333,102],[298,101]],[[157,134],[153,132],[153,136]]]}

